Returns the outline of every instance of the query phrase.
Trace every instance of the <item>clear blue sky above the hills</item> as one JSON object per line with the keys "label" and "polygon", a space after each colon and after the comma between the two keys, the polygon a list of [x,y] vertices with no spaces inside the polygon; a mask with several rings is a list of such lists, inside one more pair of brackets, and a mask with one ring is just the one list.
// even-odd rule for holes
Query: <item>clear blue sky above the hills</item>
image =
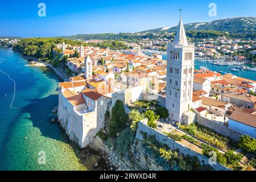
{"label": "clear blue sky above the hills", "polygon": [[[46,4],[46,17],[38,4]],[[217,16],[208,15],[216,3]],[[238,16],[256,16],[255,0],[1,0],[0,36],[52,37],[105,32],[138,32],[172,27],[179,22],[209,22]]]}

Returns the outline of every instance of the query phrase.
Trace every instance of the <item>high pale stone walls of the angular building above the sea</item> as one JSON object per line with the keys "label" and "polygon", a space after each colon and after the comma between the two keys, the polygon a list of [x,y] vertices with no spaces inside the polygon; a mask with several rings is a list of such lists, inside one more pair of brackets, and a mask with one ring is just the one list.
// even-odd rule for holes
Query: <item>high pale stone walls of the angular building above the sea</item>
{"label": "high pale stone walls of the angular building above the sea", "polygon": [[[91,100],[93,101],[93,100]],[[91,103],[92,102],[88,102]],[[90,110],[86,110],[85,114],[79,113],[76,110],[85,108],[85,105],[75,106],[59,93],[58,118],[60,126],[63,127],[69,139],[77,143],[79,147],[84,148],[98,131],[104,127],[104,114],[109,109],[109,100],[106,97],[100,97],[97,101],[93,101],[90,105]]]}

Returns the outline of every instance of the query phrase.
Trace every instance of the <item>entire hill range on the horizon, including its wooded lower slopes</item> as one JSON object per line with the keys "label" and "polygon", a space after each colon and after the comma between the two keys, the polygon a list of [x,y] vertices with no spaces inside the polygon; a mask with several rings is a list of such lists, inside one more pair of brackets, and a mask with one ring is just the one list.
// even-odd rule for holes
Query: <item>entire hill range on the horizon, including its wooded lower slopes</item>
{"label": "entire hill range on the horizon, including its wooded lower slopes", "polygon": [[[216,36],[232,36],[234,38],[256,38],[256,17],[240,17],[214,20],[212,22],[188,23],[184,24],[187,36],[191,38],[212,38]],[[75,40],[124,40],[126,42],[136,42],[142,39],[157,39],[159,35],[152,33],[164,34],[164,32],[176,32],[176,27],[163,27],[146,30],[137,33],[119,33],[119,34],[79,34],[72,36],[61,36],[61,38]],[[138,34],[149,32],[151,34]],[[226,34],[228,32],[229,34]],[[201,36],[201,34],[204,34]],[[170,39],[171,37],[164,37]]]}

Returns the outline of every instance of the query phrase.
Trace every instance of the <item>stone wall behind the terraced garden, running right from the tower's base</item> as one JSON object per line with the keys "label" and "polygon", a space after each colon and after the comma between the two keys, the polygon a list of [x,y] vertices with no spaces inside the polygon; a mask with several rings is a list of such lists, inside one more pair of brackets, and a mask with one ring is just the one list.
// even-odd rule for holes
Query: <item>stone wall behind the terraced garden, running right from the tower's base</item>
{"label": "stone wall behind the terraced garden, running right from the tower's base", "polygon": [[201,117],[199,114],[196,114],[196,122],[199,123],[199,125],[208,127],[209,129],[216,131],[218,134],[224,135],[225,137],[229,137],[233,140],[239,140],[242,135],[242,133],[239,131],[230,129],[227,126],[220,125],[207,118]]}

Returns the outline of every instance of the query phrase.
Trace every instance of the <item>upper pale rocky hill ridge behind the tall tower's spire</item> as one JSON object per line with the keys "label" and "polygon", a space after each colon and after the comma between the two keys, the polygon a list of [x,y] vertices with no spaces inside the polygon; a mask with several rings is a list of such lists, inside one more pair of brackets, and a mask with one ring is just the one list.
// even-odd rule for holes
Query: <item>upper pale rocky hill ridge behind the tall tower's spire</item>
{"label": "upper pale rocky hill ridge behind the tall tower's spire", "polygon": [[[256,17],[239,17],[214,20],[212,22],[188,23],[184,24],[185,30],[214,30],[224,31],[230,34],[255,34]],[[163,27],[146,30],[142,32],[175,32],[176,27]]]}

